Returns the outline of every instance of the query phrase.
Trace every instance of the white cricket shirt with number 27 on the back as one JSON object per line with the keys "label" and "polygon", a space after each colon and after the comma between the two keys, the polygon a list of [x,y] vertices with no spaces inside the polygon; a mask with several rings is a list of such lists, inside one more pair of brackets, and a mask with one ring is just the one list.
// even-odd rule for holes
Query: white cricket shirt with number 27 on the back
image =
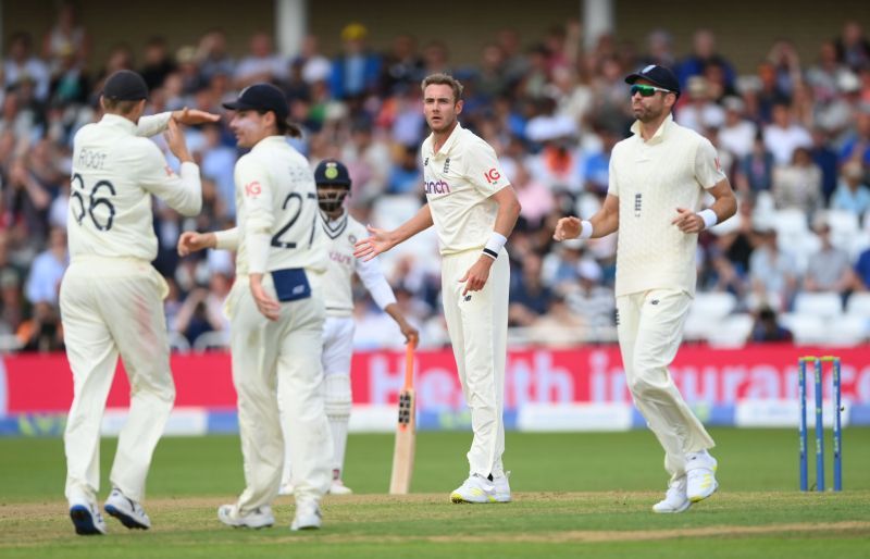
{"label": "white cricket shirt with number 27 on the back", "polygon": [[326,249],[314,173],[284,136],[260,140],[236,162],[237,226],[215,233],[236,250],[236,274],[303,268],[322,273]]}

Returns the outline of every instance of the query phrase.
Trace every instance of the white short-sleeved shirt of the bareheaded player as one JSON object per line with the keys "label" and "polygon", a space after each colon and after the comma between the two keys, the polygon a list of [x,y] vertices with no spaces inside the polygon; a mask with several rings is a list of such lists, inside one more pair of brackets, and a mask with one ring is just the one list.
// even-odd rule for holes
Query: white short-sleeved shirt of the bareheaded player
{"label": "white short-sleeved shirt of the bareheaded player", "polygon": [[442,254],[483,249],[496,223],[490,199],[509,186],[495,150],[457,123],[438,152],[423,141],[423,181]]}

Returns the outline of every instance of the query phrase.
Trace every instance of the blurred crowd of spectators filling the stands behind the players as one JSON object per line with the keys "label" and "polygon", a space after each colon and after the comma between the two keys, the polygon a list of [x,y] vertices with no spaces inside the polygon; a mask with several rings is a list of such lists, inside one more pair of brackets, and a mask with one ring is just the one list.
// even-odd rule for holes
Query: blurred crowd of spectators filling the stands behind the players
{"label": "blurred crowd of spectators filling the stands behind the players", "polygon": [[[604,35],[585,48],[579,22],[544,36],[504,28],[475,64],[460,65],[445,42],[421,45],[411,35],[372,49],[359,23],[341,29],[334,52],[309,36],[298,57],[285,59],[258,33],[247,53],[233,57],[215,29],[176,50],[161,36],[119,46],[97,64],[88,62],[91,29],[70,5],[46,27],[44,36],[9,36],[0,69],[0,351],[63,347],[58,287],[69,263],[73,136],[100,117],[102,83],[121,69],[145,76],[150,113],[190,107],[225,114],[221,103],[245,86],[278,85],[304,131],[294,145],[312,166],[327,157],[344,161],[352,214],[381,227],[424,202],[420,80],[453,74],[465,86],[462,125],[496,149],[523,207],[508,245],[511,343],[570,347],[614,339],[616,236],[556,244],[554,225],[566,214],[588,218],[607,192],[610,150],[633,121],[623,77],[668,65],[683,88],[676,122],[713,142],[741,202],[735,218],[700,236],[687,340],[858,344],[870,336],[870,41],[856,22],[821,40],[812,60],[778,39],[745,73],[703,28],[686,52],[674,51],[667,29],[636,42]],[[202,213],[182,219],[154,203],[154,265],[171,286],[165,309],[177,350],[227,339],[222,306],[233,254],[175,252],[182,231],[234,223],[240,152],[226,122],[186,131],[203,177]],[[422,328],[421,344],[446,344],[434,235],[381,260],[399,305]],[[364,289],[356,293],[356,346],[400,345],[391,320]]]}

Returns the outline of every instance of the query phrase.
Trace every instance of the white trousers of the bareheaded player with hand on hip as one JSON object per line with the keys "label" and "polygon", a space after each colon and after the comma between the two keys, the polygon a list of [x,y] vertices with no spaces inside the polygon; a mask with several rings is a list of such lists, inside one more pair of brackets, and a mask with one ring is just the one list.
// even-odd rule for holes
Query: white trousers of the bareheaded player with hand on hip
{"label": "white trousers of the bareheaded player with hand on hip", "polygon": [[474,437],[468,454],[469,473],[487,476],[504,473],[510,264],[502,249],[484,288],[463,296],[465,284],[459,280],[481,253],[475,249],[443,258],[442,298],[459,382],[471,410]]}

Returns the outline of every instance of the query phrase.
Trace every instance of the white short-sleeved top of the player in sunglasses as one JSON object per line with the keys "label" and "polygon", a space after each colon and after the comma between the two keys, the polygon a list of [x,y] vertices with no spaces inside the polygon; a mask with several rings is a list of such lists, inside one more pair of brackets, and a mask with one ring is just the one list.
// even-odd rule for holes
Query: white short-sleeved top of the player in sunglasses
{"label": "white short-sleeved top of the player in sunglasses", "polygon": [[676,208],[700,209],[705,189],[725,178],[716,149],[671,116],[644,141],[634,136],[613,147],[608,194],[619,197],[617,297],[656,288],[695,294],[698,236],[671,221]]}

